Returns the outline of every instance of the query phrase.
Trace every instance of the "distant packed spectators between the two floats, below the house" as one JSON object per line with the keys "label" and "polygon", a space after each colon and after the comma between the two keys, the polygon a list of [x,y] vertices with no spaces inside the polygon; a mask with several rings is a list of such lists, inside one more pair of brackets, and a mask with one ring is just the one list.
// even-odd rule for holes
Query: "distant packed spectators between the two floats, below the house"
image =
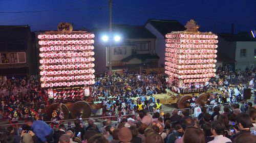
{"label": "distant packed spectators between the two floats, below the house", "polygon": [[158,72],[153,70],[149,74],[129,74],[124,71],[121,75],[117,72],[109,75],[108,72],[104,72],[101,77],[96,78],[94,94],[101,96],[104,94],[102,90],[108,89],[112,96],[122,94],[124,90],[129,90],[132,95],[136,96],[136,90],[140,90],[140,93],[143,92],[146,94],[146,90],[150,87],[155,91],[154,94],[165,93],[165,89],[167,88],[166,77],[160,70]]}

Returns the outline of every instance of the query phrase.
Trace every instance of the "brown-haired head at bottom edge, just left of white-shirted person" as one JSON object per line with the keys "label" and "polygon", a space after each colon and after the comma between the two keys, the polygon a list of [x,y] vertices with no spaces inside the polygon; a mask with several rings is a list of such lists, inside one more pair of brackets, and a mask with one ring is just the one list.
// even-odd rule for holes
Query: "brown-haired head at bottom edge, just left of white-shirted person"
{"label": "brown-haired head at bottom edge, just left of white-shirted person", "polygon": [[197,127],[187,127],[183,135],[184,143],[205,143],[204,132]]}

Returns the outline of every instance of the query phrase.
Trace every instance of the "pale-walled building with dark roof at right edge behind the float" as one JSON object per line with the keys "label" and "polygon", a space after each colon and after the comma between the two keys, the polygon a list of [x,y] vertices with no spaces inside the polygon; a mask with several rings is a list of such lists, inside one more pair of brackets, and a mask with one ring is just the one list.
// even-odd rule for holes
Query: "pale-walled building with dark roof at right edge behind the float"
{"label": "pale-walled building with dark roof at right edge behind the float", "polygon": [[235,69],[245,70],[256,66],[256,39],[249,32],[236,35],[219,34],[218,52],[233,61]]}

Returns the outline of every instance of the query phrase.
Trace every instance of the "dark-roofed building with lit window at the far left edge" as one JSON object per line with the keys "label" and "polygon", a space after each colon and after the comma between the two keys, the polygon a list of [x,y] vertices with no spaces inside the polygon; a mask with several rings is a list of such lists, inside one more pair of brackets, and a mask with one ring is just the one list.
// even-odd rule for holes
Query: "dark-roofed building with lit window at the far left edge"
{"label": "dark-roofed building with lit window at the far left edge", "polygon": [[0,26],[0,76],[36,74],[33,38],[27,25]]}

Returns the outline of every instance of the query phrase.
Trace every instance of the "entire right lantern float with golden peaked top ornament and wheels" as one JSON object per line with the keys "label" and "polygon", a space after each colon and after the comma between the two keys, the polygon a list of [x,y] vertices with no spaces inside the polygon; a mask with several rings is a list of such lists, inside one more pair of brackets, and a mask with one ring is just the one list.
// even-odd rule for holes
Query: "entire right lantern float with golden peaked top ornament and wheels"
{"label": "entire right lantern float with golden peaked top ornament and wheels", "polygon": [[186,31],[165,35],[165,73],[171,87],[166,92],[176,98],[178,108],[188,108],[192,94],[198,97],[198,105],[205,104],[209,97],[205,87],[216,75],[218,36],[199,32],[194,20],[188,21],[185,27]]}

